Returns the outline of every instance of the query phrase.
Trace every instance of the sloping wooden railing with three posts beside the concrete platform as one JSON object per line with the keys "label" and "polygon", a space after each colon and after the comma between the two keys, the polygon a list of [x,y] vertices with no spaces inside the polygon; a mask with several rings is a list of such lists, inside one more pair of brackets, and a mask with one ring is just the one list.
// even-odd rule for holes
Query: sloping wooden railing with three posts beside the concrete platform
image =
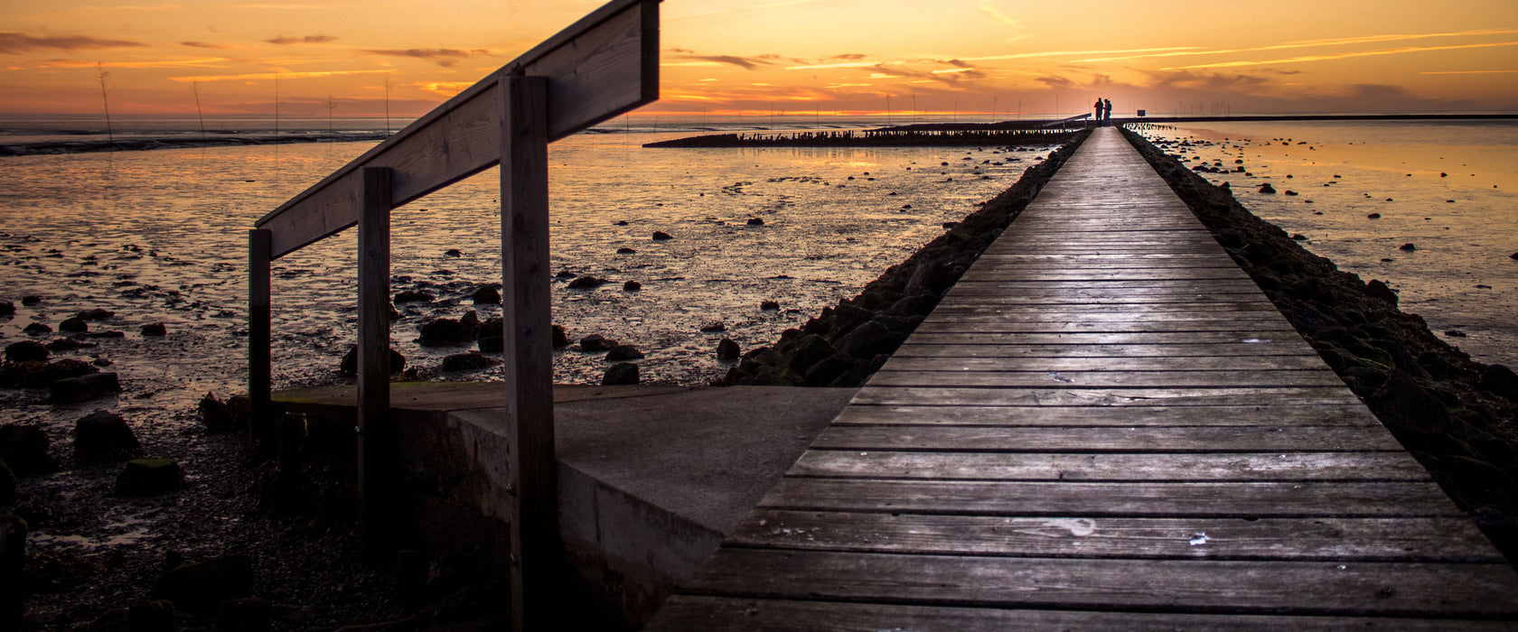
{"label": "sloping wooden railing with three posts beside the concrete platform", "polygon": [[[358,505],[366,556],[389,546],[390,211],[501,165],[512,612],[540,627],[559,555],[548,293],[548,144],[659,99],[659,2],[613,0],[437,106],[255,223],[247,393],[270,415],[270,262],[358,226]],[[536,623],[534,623],[536,621]]]}

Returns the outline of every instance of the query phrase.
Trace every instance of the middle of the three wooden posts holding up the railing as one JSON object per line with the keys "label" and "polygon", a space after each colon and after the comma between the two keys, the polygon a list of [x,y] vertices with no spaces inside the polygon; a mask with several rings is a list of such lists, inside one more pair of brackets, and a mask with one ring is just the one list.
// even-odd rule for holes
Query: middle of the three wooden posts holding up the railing
{"label": "middle of the three wooden posts holding up the railing", "polygon": [[358,212],[358,537],[364,558],[390,544],[390,168],[360,168]]}

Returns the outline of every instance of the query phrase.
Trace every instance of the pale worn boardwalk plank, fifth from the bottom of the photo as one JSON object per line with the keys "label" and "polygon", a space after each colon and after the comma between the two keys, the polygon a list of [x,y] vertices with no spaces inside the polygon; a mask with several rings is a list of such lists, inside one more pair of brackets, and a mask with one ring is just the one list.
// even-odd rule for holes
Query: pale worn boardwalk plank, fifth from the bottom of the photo
{"label": "pale worn boardwalk plank, fifth from the bottom of the photo", "polygon": [[[934,449],[929,446],[927,449]],[[808,450],[786,476],[932,480],[1430,480],[1404,452],[1026,453]]]}

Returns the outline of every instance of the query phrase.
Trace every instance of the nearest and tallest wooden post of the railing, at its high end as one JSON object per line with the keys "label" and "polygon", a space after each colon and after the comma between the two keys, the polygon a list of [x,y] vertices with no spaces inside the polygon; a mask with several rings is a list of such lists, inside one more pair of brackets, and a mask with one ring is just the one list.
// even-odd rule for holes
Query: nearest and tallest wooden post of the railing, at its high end
{"label": "nearest and tallest wooden post of the railing, at its high end", "polygon": [[553,626],[560,562],[548,296],[548,79],[501,82],[501,315],[512,450],[512,624]]}

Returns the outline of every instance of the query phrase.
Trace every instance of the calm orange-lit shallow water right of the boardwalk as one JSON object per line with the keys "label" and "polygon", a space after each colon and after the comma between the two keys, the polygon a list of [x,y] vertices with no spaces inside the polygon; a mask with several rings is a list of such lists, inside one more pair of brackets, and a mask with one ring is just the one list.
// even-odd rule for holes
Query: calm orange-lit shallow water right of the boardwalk
{"label": "calm orange-lit shallow water right of the boardwalk", "polygon": [[[1401,294],[1483,362],[1518,365],[1518,123],[1187,123],[1189,165],[1309,250]],[[1172,149],[1172,152],[1175,152]],[[1275,194],[1258,192],[1269,182]],[[1295,196],[1286,194],[1295,192]],[[1371,215],[1378,217],[1371,217]],[[1401,250],[1413,244],[1416,250]]]}

